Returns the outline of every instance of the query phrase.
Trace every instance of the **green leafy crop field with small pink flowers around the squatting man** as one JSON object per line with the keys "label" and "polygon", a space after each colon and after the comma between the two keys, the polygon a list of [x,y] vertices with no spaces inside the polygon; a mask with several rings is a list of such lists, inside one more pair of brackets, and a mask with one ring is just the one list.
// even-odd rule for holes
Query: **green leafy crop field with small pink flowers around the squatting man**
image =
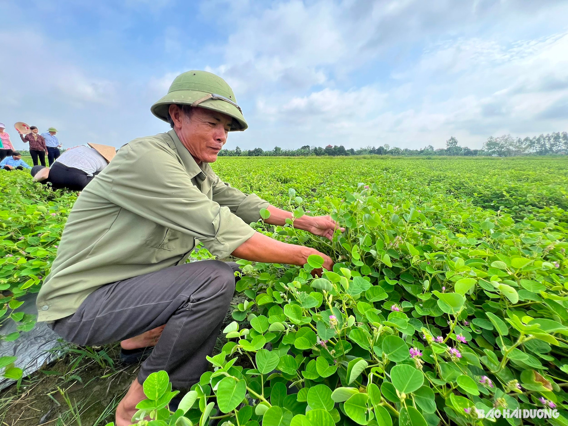
{"label": "green leafy crop field with small pink flowers around the squatting man", "polygon": [[[167,374],[153,373],[138,414],[149,426],[568,424],[568,159],[220,157],[212,166],[295,218],[332,215],[345,231],[329,241],[253,224],[327,253],[333,271],[312,274],[318,256],[303,268],[240,261],[210,371],[176,412]],[[77,194],[32,183],[27,171],[0,171],[0,187],[0,324],[18,323],[0,339],[14,341],[35,325],[20,299],[48,274]],[[17,382],[0,394],[0,419],[105,425],[135,371],[116,353],[66,346],[28,378],[1,357],[0,372]],[[478,420],[492,408],[559,416]]]}

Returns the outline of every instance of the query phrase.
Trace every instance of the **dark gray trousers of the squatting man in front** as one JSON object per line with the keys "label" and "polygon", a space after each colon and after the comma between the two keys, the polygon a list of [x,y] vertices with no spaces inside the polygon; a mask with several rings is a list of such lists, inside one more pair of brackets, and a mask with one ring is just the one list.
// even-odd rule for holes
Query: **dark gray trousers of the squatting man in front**
{"label": "dark gray trousers of the squatting man in front", "polygon": [[93,291],[73,315],[51,324],[77,345],[129,339],[166,324],[138,381],[168,372],[174,388],[189,388],[208,369],[235,290],[234,262],[207,260],[107,284]]}

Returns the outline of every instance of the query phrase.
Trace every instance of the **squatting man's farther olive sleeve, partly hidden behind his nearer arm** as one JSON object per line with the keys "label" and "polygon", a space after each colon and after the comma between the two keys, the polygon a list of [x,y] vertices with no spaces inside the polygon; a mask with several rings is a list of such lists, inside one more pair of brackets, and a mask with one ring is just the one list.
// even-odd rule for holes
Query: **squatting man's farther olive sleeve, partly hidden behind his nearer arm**
{"label": "squatting man's farther olive sleeve, partly hidden behind his nearer arm", "polygon": [[260,219],[260,209],[268,208],[270,203],[256,194],[244,194],[218,177],[213,186],[213,200],[221,206],[227,206],[235,215],[246,223]]}

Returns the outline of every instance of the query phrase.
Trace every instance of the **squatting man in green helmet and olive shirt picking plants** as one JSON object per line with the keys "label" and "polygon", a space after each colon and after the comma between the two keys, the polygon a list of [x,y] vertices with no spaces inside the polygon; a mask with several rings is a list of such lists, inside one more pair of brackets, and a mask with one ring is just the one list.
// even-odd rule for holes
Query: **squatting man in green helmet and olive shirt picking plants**
{"label": "squatting man in green helmet and olive shirt picking plants", "polygon": [[[176,77],[151,111],[172,127],[119,149],[87,185],[69,214],[51,273],[37,296],[39,320],[78,345],[121,341],[123,353],[155,346],[116,408],[130,424],[145,399],[142,383],[158,370],[174,389],[206,371],[235,289],[233,262],[186,263],[197,241],[216,257],[304,265],[317,250],[262,235],[248,223],[268,208],[269,224],[290,212],[221,181],[211,162],[228,132],[248,127],[231,87],[215,74]],[[303,216],[294,226],[331,239],[329,216]],[[159,339],[159,340],[158,340]]]}

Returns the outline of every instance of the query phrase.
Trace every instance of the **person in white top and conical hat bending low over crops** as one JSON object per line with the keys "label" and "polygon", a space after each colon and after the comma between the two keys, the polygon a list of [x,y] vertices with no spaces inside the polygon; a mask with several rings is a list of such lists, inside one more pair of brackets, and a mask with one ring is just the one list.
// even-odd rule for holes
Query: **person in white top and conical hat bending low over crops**
{"label": "person in white top and conical hat bending low over crops", "polygon": [[55,189],[82,191],[87,183],[102,172],[115,154],[116,149],[108,145],[81,145],[62,153],[51,168],[34,166],[30,173],[34,181],[45,185],[51,183]]}

